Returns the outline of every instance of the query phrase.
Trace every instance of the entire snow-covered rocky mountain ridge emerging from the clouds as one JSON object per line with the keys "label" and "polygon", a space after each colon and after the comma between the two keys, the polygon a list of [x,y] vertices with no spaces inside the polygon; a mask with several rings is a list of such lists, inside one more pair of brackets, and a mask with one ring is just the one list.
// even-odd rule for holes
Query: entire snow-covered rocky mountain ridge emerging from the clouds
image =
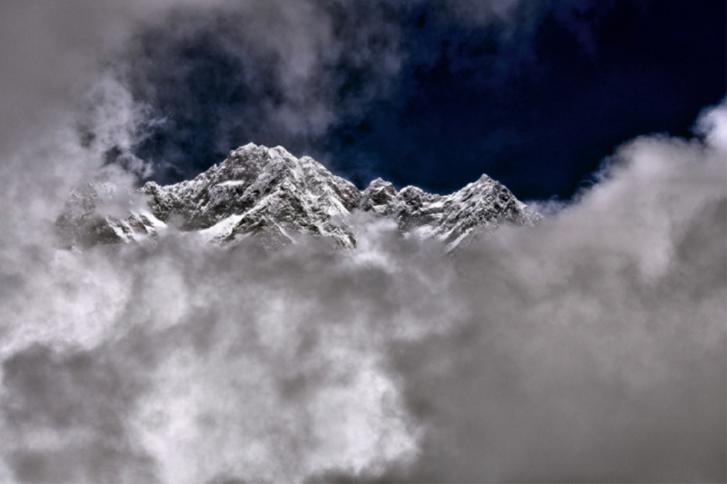
{"label": "entire snow-covered rocky mountain ridge emerging from the clouds", "polygon": [[361,210],[393,218],[403,232],[435,237],[452,251],[503,222],[530,225],[541,218],[486,175],[444,196],[413,186],[397,192],[382,179],[360,192],[310,157],[253,143],[194,180],[150,182],[141,193],[148,197],[148,211],[103,216],[96,210],[103,197],[90,185],[72,194],[57,225],[66,241],[81,246],[156,238],[171,224],[221,243],[254,236],[275,247],[304,234],[353,248],[357,237],[350,215]]}

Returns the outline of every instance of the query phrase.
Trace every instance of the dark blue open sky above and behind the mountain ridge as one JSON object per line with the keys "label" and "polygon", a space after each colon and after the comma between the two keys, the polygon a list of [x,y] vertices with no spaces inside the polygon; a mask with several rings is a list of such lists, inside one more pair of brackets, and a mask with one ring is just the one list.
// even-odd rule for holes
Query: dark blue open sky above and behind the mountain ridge
{"label": "dark blue open sky above and behind the mountain ridge", "polygon": [[[230,54],[224,22],[177,18],[139,35],[134,96],[165,121],[135,150],[157,181],[254,142],[311,154],[360,187],[381,176],[450,193],[487,173],[521,199],[569,198],[619,143],[690,136],[727,92],[723,0],[524,3],[505,24],[453,21],[436,0],[320,4],[350,52],[324,64],[316,93],[336,117],[314,132],[276,124],[270,106],[306,106],[286,101],[274,59]],[[370,37],[362,64],[354,33],[376,23],[400,35]],[[403,64],[382,75],[376,53],[393,46]]]}

